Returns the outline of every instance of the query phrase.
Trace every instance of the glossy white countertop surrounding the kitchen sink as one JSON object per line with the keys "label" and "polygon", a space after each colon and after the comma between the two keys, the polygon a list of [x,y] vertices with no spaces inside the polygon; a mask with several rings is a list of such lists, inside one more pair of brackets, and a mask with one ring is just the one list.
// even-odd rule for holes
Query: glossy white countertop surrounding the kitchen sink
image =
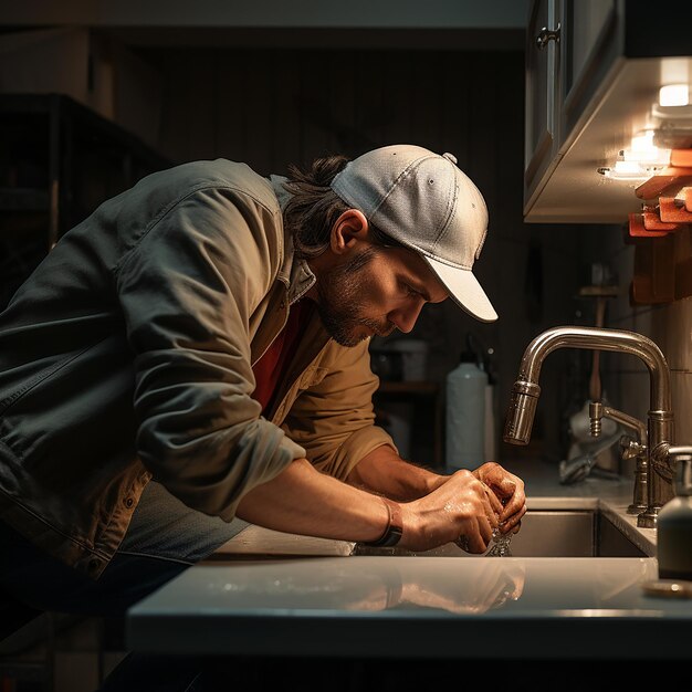
{"label": "glossy white countertop surrounding the kitchen sink", "polygon": [[[532,469],[533,466],[533,469]],[[547,470],[546,470],[547,469]],[[516,472],[517,469],[515,468]],[[149,652],[545,659],[689,659],[692,599],[647,595],[656,531],[628,515],[633,481],[563,486],[526,462],[530,511],[600,508],[647,557],[359,556],[354,544],[249,526],[214,559],[133,607]],[[642,642],[646,641],[646,646]]]}

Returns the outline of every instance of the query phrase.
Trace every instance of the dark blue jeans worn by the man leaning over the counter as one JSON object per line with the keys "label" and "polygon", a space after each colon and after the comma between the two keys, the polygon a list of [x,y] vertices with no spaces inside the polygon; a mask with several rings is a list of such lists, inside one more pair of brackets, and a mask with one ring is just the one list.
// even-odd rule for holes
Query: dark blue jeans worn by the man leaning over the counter
{"label": "dark blue jeans worn by the man leaning over the counter", "polygon": [[[127,534],[97,580],[36,549],[0,521],[0,590],[39,610],[119,617],[203,559],[248,524],[187,507],[154,481],[145,489]],[[103,692],[197,692],[200,661],[130,653]]]}

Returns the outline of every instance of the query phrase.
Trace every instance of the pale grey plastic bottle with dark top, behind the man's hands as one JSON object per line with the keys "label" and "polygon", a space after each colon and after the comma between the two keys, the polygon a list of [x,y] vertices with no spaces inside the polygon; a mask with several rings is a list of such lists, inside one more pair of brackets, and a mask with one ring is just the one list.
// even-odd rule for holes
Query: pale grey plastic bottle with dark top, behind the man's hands
{"label": "pale grey plastic bottle with dark top, behind the man's hands", "polygon": [[447,376],[445,466],[449,473],[475,469],[485,459],[485,391],[487,374],[472,350]]}

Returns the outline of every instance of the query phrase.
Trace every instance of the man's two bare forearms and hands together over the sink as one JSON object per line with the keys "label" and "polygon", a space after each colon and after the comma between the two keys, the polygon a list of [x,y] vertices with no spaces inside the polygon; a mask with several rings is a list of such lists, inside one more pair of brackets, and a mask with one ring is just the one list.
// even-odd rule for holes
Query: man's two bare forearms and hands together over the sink
{"label": "man's two bare forearms and hands together over the sink", "polygon": [[[394,450],[385,449],[368,454],[363,461],[365,465],[357,476],[344,483],[321,473],[306,459],[297,459],[277,476],[248,492],[239,503],[237,515],[286,533],[374,542],[389,526],[390,511],[382,497],[350,484],[357,481],[363,486],[376,486],[382,494],[390,494],[392,500],[399,499],[395,510],[401,521],[401,547],[428,551],[465,536],[470,552],[487,549],[503,505],[489,485],[473,473],[460,470],[449,476],[438,475],[409,464]],[[388,483],[382,481],[386,473],[394,475]],[[525,512],[521,481],[506,478],[502,469],[495,466],[487,466],[482,475],[503,495],[513,490],[505,511],[518,496],[522,506],[511,520],[516,525]],[[503,485],[507,487],[503,489]],[[412,494],[420,497],[403,499]]]}

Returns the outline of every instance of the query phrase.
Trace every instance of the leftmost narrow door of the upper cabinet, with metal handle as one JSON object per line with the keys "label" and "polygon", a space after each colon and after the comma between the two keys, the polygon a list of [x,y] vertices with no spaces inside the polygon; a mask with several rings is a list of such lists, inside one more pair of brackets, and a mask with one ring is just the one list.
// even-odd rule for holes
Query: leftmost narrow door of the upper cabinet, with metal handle
{"label": "leftmost narrow door of the upper cabinet, with metal handle", "polygon": [[524,212],[555,166],[559,96],[559,1],[532,3],[526,28]]}

